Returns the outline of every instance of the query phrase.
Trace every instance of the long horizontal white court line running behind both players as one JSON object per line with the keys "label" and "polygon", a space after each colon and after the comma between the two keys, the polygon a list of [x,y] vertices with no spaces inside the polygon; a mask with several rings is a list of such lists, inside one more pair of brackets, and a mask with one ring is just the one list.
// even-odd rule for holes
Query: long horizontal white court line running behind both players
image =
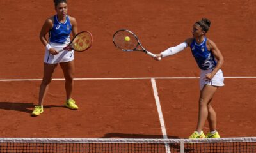
{"label": "long horizontal white court line running behind both players", "polygon": [[[142,78],[74,78],[74,80],[151,80],[151,79],[198,79],[199,77],[142,77]],[[224,77],[224,78],[256,78],[256,77]],[[52,78],[52,80],[65,80],[65,78]],[[12,81],[42,81],[41,78],[0,79],[0,82]]]}

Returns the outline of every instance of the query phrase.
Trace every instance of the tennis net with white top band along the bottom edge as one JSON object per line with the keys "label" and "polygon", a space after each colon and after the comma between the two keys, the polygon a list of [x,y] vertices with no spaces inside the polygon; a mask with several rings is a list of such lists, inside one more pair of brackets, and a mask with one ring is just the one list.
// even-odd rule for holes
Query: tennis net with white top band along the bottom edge
{"label": "tennis net with white top band along the bottom edge", "polygon": [[194,140],[0,138],[0,152],[256,152],[256,137]]}

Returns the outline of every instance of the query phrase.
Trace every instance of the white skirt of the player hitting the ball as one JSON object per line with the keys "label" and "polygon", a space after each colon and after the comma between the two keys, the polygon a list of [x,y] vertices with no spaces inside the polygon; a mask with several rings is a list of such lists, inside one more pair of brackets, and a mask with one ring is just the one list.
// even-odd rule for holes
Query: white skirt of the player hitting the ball
{"label": "white skirt of the player hitting the ball", "polygon": [[207,73],[211,73],[212,69],[209,70],[202,70],[200,72],[200,90],[203,89],[204,85],[212,85],[212,86],[224,86],[224,77],[223,72],[221,69],[214,75],[214,77],[211,80],[205,80],[205,75]]}

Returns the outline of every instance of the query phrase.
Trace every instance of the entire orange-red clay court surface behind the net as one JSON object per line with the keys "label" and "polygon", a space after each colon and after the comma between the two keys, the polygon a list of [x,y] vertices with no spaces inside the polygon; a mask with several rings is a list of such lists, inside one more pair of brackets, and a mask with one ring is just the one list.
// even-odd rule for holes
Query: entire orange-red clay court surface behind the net
{"label": "entire orange-red clay court surface behind the net", "polygon": [[[68,14],[94,39],[90,50],[76,53],[75,77],[92,80],[75,80],[77,111],[63,107],[65,82],[52,81],[39,117],[30,113],[38,103],[40,80],[26,79],[42,78],[44,46],[38,36],[45,19],[55,14],[54,4],[1,0],[0,7],[0,137],[163,138],[150,78],[184,77],[156,79],[156,86],[168,138],[187,138],[196,127],[199,97],[198,79],[187,78],[199,76],[189,48],[154,61],[141,52],[118,50],[112,36],[130,29],[145,48],[159,53],[190,37],[202,17],[212,22],[207,37],[225,57],[225,77],[235,77],[225,78],[212,102],[218,131],[221,137],[255,136],[256,1],[69,0]],[[142,77],[148,79],[136,79]],[[63,78],[60,66],[53,78]]]}

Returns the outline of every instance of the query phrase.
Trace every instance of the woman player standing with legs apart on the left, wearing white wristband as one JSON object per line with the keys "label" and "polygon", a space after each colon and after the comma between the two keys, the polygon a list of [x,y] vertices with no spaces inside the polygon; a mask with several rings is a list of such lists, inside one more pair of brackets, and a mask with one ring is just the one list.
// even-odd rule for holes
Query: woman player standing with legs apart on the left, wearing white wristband
{"label": "woman player standing with legs apart on the left, wearing white wristband", "polygon": [[[38,116],[44,112],[43,102],[45,95],[48,91],[52,74],[58,64],[60,64],[65,77],[67,96],[65,106],[72,110],[78,109],[74,99],[71,98],[75,71],[74,50],[58,52],[58,50],[61,50],[70,43],[70,33],[73,36],[77,34],[77,22],[74,17],[67,15],[68,6],[66,0],[54,0],[54,6],[57,14],[45,20],[40,32],[40,40],[45,46],[44,77],[40,85],[38,106],[35,106],[35,109],[31,113],[32,116]],[[49,34],[48,40],[46,39],[47,33]]]}

